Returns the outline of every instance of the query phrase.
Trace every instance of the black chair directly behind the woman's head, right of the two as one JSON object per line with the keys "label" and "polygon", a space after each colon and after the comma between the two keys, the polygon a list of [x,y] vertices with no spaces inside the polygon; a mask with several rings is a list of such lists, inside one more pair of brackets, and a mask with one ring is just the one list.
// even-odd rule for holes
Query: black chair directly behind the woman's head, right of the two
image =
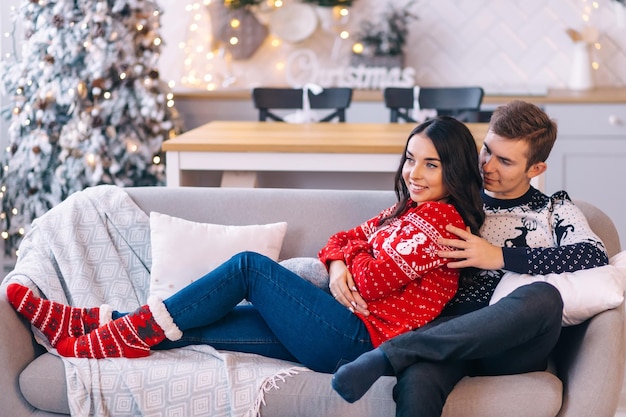
{"label": "black chair directly behind the woman's head, right of the two", "polygon": [[[398,119],[416,123],[410,115],[413,88],[388,87],[383,94],[392,123],[397,123]],[[463,122],[478,122],[484,95],[481,87],[421,87],[419,106],[421,109],[435,109],[438,115],[452,116]]]}

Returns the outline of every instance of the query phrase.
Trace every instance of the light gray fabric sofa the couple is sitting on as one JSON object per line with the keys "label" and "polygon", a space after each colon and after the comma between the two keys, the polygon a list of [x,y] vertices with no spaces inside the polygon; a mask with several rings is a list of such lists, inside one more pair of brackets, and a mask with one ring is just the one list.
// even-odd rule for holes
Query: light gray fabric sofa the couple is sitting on
{"label": "light gray fabric sofa the couple is sitting on", "polygon": [[[315,256],[334,232],[351,228],[394,202],[391,192],[220,188],[129,188],[146,212],[192,221],[260,224],[287,221],[281,259]],[[596,207],[577,204],[604,240],[620,251],[611,220]],[[62,362],[44,353],[30,327],[0,291],[0,414],[13,417],[69,414]],[[554,372],[465,378],[444,416],[612,417],[624,375],[624,306],[564,328],[553,355]],[[334,393],[331,375],[304,372],[266,393],[263,417],[386,417],[395,414],[395,378],[379,380],[348,404]],[[8,413],[8,414],[6,414]],[[57,413],[57,414],[55,414]]]}

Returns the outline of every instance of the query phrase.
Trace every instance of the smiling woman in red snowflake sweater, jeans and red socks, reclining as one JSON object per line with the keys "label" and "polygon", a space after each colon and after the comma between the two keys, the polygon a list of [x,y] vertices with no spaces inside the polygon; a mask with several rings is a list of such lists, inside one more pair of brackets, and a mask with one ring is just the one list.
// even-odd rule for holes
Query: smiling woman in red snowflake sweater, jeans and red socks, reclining
{"label": "smiling woman in red snowflake sweater, jeans and red socks, reclining", "polygon": [[[262,255],[243,252],[178,293],[129,314],[76,308],[11,284],[13,307],[62,356],[142,357],[151,348],[210,344],[217,349],[298,361],[332,372],[382,342],[433,320],[454,296],[459,272],[437,252],[452,224],[477,233],[484,220],[474,139],[440,117],[409,135],[395,179],[398,202],[362,225],[332,236],[319,252],[335,274],[349,274],[369,314]],[[343,294],[334,294],[336,298]],[[251,306],[242,306],[242,300]],[[345,301],[345,300],[344,300]],[[349,305],[349,304],[348,304]]]}

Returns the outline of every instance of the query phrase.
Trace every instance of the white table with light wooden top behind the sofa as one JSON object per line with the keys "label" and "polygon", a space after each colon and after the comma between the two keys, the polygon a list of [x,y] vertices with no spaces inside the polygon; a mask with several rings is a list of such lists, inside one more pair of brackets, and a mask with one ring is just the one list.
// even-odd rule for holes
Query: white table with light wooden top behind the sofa
{"label": "white table with light wooden top behind the sofa", "polygon": [[[488,125],[469,123],[477,147]],[[221,171],[221,186],[254,187],[257,173],[395,173],[413,125],[215,121],[163,143],[167,185],[185,171]]]}

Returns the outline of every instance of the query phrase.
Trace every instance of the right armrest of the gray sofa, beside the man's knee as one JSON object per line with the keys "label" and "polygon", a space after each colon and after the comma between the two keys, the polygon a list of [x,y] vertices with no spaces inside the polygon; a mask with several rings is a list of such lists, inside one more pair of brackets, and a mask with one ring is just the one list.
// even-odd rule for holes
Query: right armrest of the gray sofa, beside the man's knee
{"label": "right armrest of the gray sofa, beside the man's knee", "polygon": [[624,379],[624,303],[563,328],[555,349],[563,381],[558,417],[613,416]]}

